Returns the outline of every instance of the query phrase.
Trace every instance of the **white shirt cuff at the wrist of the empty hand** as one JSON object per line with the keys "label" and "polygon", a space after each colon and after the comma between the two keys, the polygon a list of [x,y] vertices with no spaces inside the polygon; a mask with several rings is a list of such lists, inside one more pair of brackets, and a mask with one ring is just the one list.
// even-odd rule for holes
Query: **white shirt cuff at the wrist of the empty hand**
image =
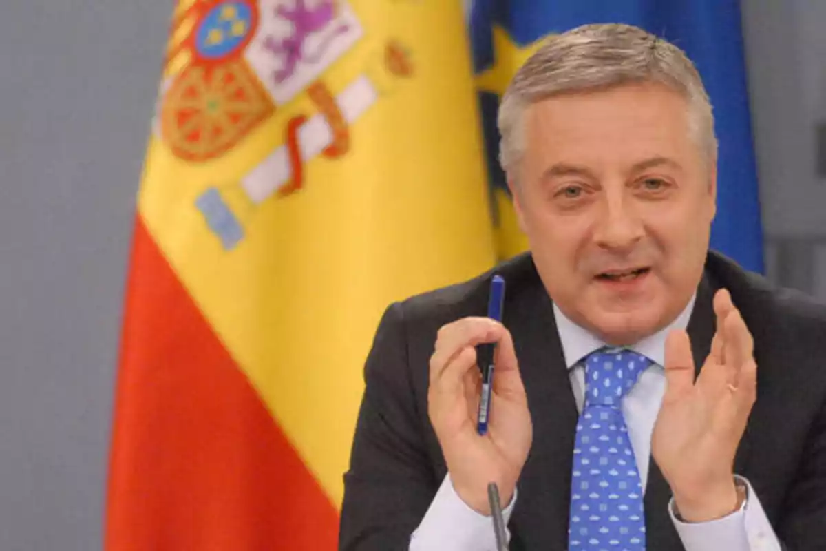
{"label": "white shirt cuff at the wrist of the empty hand", "polygon": [[721,519],[685,522],[675,513],[674,498],[669,501],[668,514],[686,551],[781,551],[780,542],[751,483],[738,475],[734,478],[746,487],[746,499],[738,511]]}

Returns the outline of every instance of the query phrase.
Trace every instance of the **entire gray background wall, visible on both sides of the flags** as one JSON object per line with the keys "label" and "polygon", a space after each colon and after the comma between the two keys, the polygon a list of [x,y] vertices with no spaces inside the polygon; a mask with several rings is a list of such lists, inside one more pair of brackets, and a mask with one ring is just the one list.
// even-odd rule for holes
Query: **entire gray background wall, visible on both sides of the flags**
{"label": "entire gray background wall, visible on both sides of the flags", "polygon": [[[101,548],[121,292],[172,5],[3,6],[0,549]],[[743,12],[768,272],[826,298],[826,3]]]}

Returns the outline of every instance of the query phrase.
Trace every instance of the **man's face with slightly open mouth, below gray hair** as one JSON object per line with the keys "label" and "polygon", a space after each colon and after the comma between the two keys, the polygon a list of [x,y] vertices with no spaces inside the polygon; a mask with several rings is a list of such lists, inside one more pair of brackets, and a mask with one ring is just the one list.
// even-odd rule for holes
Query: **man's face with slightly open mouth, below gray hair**
{"label": "man's face with slightly open mouth, below gray hair", "polygon": [[700,281],[716,169],[687,102],[655,83],[567,94],[525,112],[511,182],[548,293],[609,344],[670,323]]}

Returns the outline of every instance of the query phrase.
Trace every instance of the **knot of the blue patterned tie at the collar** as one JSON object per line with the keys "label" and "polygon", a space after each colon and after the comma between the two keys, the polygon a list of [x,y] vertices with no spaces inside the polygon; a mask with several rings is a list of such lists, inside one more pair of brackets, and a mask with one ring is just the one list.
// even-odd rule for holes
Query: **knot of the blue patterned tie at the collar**
{"label": "knot of the blue patterned tie at the collar", "polygon": [[585,361],[585,405],[614,406],[637,382],[651,360],[629,349],[599,349]]}

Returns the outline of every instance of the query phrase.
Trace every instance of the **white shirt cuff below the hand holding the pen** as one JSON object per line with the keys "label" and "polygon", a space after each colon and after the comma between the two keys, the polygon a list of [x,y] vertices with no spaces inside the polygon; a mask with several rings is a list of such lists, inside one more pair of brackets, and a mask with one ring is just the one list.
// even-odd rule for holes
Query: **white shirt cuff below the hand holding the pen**
{"label": "white shirt cuff below the hand holding the pen", "polygon": [[[516,491],[502,510],[505,531],[516,503]],[[425,518],[411,536],[410,551],[444,549],[444,551],[496,551],[496,535],[491,516],[481,515],[468,506],[453,489],[448,473],[436,492]]]}

